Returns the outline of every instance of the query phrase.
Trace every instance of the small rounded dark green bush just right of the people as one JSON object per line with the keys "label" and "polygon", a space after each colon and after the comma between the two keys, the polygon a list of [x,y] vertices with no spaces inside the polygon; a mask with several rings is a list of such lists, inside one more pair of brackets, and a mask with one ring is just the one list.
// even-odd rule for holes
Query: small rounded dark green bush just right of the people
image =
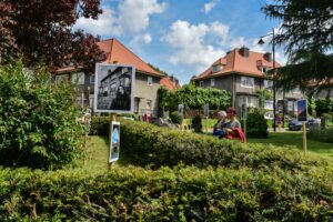
{"label": "small rounded dark green bush just right of the people", "polygon": [[268,138],[268,120],[259,111],[248,114],[246,119],[246,137],[248,138]]}

